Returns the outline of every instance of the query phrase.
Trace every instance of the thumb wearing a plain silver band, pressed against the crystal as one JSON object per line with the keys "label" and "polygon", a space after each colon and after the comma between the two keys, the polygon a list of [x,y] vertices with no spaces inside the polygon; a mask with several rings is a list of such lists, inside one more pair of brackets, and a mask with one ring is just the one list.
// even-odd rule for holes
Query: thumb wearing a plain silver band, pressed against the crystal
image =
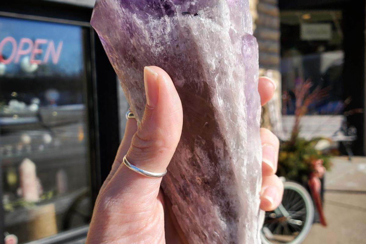
{"label": "thumb wearing a plain silver band, pressed against the crystal", "polygon": [[[144,68],[146,93],[145,111],[132,137],[126,159],[132,165],[150,172],[164,172],[182,133],[183,112],[179,95],[169,75],[159,67]],[[124,155],[117,155],[122,159]],[[156,199],[161,178],[151,178],[121,165],[109,181],[105,191],[133,195],[131,200],[143,197]],[[145,199],[148,200],[148,199]]]}

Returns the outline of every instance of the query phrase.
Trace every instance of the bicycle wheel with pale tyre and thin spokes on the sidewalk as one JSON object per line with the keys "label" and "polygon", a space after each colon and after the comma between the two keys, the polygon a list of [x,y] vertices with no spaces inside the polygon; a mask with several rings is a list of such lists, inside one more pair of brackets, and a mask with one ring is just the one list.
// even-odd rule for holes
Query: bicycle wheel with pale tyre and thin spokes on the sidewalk
{"label": "bicycle wheel with pale tyre and thin spokes on the sidewalk", "polygon": [[264,244],[299,244],[313,224],[314,205],[309,193],[295,182],[284,183],[282,202],[266,212],[261,240]]}

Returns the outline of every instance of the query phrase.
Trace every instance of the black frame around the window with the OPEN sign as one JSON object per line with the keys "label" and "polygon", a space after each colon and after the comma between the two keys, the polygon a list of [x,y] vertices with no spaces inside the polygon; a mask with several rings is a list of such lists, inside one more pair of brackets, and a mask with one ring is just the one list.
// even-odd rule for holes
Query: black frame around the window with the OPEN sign
{"label": "black frame around the window with the OPEN sign", "polygon": [[[85,40],[86,53],[86,97],[89,131],[89,173],[94,205],[98,191],[108,176],[119,146],[118,91],[116,74],[104,52],[98,35],[90,26],[93,9],[85,5],[44,1],[17,0],[1,1],[0,16],[20,19],[65,23],[85,28],[89,38]],[[1,159],[0,159],[1,164]],[[0,165],[0,196],[3,182]],[[0,204],[0,244],[4,243],[4,210]],[[87,226],[61,232],[53,237],[32,241],[32,244],[72,243],[86,236]]]}

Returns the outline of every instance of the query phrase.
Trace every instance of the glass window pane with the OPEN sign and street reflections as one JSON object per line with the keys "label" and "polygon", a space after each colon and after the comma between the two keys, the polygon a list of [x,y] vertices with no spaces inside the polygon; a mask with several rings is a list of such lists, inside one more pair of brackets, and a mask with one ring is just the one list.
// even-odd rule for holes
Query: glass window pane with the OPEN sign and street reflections
{"label": "glass window pane with the OPEN sign and street reflections", "polygon": [[19,243],[90,218],[84,34],[0,17],[1,221]]}

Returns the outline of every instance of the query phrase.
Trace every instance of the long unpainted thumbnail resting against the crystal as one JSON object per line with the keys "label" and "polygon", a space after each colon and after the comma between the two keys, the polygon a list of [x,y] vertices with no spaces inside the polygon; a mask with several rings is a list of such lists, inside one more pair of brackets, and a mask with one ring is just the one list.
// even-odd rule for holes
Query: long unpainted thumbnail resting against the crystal
{"label": "long unpainted thumbnail resting against the crystal", "polygon": [[143,69],[143,80],[147,105],[155,108],[159,98],[158,74],[152,68],[145,66]]}

